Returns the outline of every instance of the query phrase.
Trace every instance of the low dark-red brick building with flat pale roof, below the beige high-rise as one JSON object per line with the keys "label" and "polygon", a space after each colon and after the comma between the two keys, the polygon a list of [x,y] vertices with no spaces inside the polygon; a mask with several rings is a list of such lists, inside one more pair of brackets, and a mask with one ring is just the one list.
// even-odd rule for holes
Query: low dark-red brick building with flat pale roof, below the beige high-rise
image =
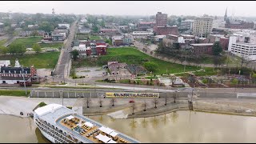
{"label": "low dark-red brick building with flat pale roof, below the beige high-rise", "polygon": [[194,54],[213,54],[214,43],[193,43],[189,46]]}

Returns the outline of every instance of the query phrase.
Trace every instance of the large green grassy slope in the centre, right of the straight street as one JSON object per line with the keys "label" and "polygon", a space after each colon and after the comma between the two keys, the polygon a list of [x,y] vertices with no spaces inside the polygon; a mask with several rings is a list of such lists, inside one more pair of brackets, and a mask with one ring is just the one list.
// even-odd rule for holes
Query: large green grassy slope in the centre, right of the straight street
{"label": "large green grassy slope in the centre, right of the straight street", "polygon": [[[126,62],[127,64],[138,64],[143,65],[144,62],[150,61],[158,65],[158,70],[154,74],[168,74],[182,72],[184,66],[180,64],[175,64],[171,62],[165,62],[158,58],[153,58],[147,54],[142,53],[139,50],[136,50],[132,47],[123,47],[123,48],[113,48],[107,49],[107,55],[102,55],[98,60],[83,60],[81,62],[74,62],[75,67],[79,66],[103,66],[106,65],[109,61],[118,61]],[[199,70],[196,66],[190,66],[190,70]],[[189,71],[189,70],[187,70]]]}

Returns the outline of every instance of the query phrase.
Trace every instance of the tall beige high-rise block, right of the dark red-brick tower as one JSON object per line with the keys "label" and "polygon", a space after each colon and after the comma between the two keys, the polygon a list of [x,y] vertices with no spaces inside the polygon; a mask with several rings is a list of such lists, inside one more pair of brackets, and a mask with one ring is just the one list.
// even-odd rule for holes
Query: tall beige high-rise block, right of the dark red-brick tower
{"label": "tall beige high-rise block, right of the dark red-brick tower", "polygon": [[193,35],[199,38],[206,38],[212,31],[213,18],[200,17],[195,18],[193,25]]}

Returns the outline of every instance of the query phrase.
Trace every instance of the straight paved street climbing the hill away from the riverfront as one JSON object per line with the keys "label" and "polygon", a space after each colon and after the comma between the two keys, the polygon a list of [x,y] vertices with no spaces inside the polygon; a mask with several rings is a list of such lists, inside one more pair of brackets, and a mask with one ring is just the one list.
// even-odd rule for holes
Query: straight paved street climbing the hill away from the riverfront
{"label": "straight paved street climbing the hill away from the riverfront", "polygon": [[74,40],[74,35],[77,30],[77,21],[70,26],[70,34],[64,44],[64,48],[58,58],[58,64],[56,66],[56,70],[54,71],[55,77],[58,79],[63,79],[70,74],[70,53],[69,49],[71,48],[71,42]]}

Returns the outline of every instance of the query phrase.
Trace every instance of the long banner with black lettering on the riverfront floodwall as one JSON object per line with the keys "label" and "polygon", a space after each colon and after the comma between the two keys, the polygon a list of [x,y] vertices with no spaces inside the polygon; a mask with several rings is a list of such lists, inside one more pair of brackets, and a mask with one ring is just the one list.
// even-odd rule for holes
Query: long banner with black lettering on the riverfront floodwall
{"label": "long banner with black lettering on the riverfront floodwall", "polygon": [[110,93],[106,92],[106,98],[159,98],[159,93]]}

